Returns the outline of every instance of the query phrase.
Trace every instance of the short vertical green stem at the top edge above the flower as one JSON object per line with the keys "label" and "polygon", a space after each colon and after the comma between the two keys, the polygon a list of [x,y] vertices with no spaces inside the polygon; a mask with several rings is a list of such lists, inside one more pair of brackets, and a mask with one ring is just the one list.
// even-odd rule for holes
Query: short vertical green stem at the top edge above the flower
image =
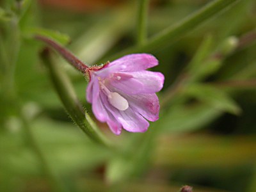
{"label": "short vertical green stem at the top edge above the flower", "polygon": [[138,0],[138,23],[137,23],[137,43],[143,45],[147,40],[147,12],[149,0]]}

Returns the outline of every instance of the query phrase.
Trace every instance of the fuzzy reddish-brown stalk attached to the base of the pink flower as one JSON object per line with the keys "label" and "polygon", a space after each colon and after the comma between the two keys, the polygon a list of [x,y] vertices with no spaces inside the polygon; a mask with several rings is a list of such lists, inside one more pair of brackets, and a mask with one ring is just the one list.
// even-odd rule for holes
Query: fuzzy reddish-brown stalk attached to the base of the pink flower
{"label": "fuzzy reddish-brown stalk attached to the base of the pink flower", "polygon": [[36,35],[36,39],[42,40],[45,42],[47,45],[50,45],[55,51],[61,54],[65,60],[68,61],[71,65],[73,65],[77,70],[82,72],[83,74],[85,73],[86,69],[88,68],[82,61],[80,61],[74,54],[72,54],[70,51],[62,47],[60,44],[54,42],[53,40],[42,36],[42,35]]}

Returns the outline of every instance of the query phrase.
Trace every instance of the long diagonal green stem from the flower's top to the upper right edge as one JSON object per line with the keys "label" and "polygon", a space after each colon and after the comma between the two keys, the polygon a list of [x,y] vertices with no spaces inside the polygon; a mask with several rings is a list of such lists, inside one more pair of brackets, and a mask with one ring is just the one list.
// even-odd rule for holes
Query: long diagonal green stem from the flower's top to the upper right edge
{"label": "long diagonal green stem from the flower's top to the upper right edge", "polygon": [[[179,40],[180,37],[184,36],[186,33],[190,32],[192,29],[195,29],[200,24],[204,23],[206,20],[211,19],[212,17],[220,14],[227,8],[230,8],[234,4],[238,3],[241,0],[215,0],[211,3],[205,5],[203,8],[198,10],[195,13],[192,13],[185,19],[181,20],[174,26],[166,28],[164,31],[161,31],[157,35],[150,38],[143,45],[136,45],[134,47],[128,48],[124,51],[118,52],[114,56],[108,57],[108,60],[115,60],[120,58],[125,54],[131,54],[134,52],[151,52],[156,51],[157,49],[170,45],[176,40]],[[103,59],[107,60],[107,59]]]}

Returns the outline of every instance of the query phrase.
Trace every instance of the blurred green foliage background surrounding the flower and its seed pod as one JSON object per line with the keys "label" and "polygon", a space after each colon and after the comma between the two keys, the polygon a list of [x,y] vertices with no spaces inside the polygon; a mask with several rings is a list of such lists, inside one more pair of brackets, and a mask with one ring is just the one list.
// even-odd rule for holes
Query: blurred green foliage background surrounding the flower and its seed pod
{"label": "blurred green foliage background surrounding the flower and its seed pod", "polygon": [[[141,2],[0,1],[0,191],[256,191],[256,2]],[[145,133],[115,136],[94,119],[84,77],[55,54],[119,150],[90,140],[65,112],[35,33],[88,65],[154,54],[152,70],[165,76],[159,120]]]}

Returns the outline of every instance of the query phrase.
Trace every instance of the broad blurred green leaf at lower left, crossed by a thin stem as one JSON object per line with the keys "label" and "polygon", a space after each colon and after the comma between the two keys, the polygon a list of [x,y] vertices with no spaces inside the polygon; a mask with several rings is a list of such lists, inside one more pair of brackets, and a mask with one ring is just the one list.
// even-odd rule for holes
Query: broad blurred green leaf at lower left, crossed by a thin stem
{"label": "broad blurred green leaf at lower left, crossed by a thin stem", "polygon": [[[39,118],[32,126],[33,134],[45,156],[58,172],[78,171],[82,167],[91,170],[109,158],[109,150],[84,138],[81,131],[74,129],[74,125],[70,123]],[[12,134],[0,134],[0,144],[0,167],[4,167],[6,172],[20,176],[40,174],[40,164],[24,143],[21,129]]]}

